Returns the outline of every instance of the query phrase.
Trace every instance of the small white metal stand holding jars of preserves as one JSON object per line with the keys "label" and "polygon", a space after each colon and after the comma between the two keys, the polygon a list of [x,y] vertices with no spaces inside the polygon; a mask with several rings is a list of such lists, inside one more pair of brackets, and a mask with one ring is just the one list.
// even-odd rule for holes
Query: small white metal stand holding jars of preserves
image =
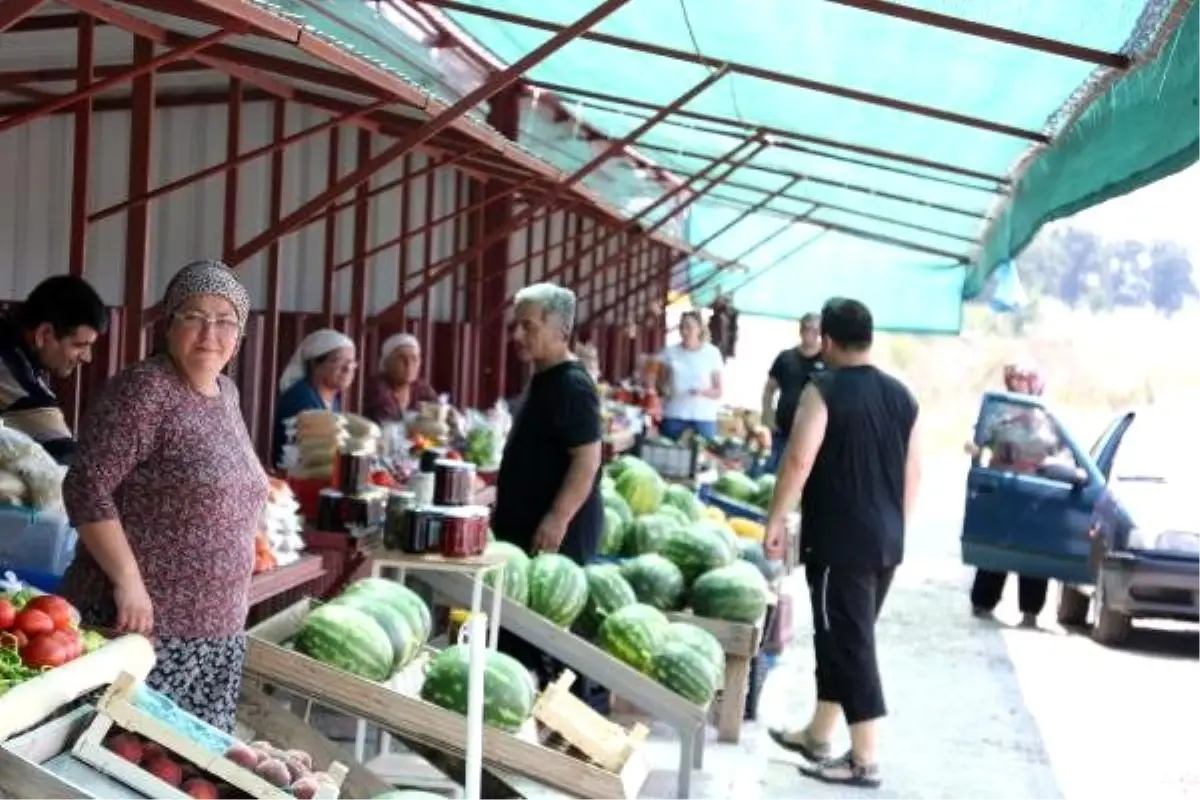
{"label": "small white metal stand holding jars of preserves", "polygon": [[[469,558],[445,558],[442,555],[410,555],[398,551],[377,551],[372,553],[372,573],[376,577],[389,577],[400,583],[409,570],[414,572],[450,573],[472,578],[470,618],[467,624],[470,650],[469,682],[467,688],[467,800],[479,800],[481,775],[484,769],[484,661],[485,648],[493,650],[500,630],[499,596],[492,597],[492,610],[484,614],[484,577],[496,572],[496,585],[504,585],[504,563],[506,557],[491,553]],[[388,573],[388,575],[385,575]],[[490,624],[490,627],[487,625]],[[355,756],[361,762],[365,754],[366,722],[359,723],[355,735]],[[384,739],[382,750],[388,752],[389,741]]]}

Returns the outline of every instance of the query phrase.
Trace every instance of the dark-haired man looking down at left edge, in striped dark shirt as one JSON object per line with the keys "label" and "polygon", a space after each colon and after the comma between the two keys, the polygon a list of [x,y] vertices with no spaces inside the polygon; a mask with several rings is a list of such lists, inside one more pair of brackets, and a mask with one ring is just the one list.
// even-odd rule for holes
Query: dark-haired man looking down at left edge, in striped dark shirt
{"label": "dark-haired man looking down at left edge, in striped dark shirt", "polygon": [[74,438],[50,378],[67,378],[91,361],[91,347],[107,329],[104,301],[71,275],[46,278],[0,320],[0,420],[60,464],[70,463]]}

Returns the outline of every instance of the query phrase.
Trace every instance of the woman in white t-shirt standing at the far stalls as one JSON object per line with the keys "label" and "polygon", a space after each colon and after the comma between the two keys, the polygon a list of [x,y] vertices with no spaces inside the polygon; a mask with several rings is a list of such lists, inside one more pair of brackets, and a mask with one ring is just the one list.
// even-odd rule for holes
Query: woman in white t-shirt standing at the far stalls
{"label": "woman in white t-shirt standing at the far stalls", "polygon": [[721,407],[721,351],[703,339],[704,325],[695,311],[679,319],[679,344],[662,350],[667,397],[660,433],[678,439],[685,431],[716,438],[716,413]]}

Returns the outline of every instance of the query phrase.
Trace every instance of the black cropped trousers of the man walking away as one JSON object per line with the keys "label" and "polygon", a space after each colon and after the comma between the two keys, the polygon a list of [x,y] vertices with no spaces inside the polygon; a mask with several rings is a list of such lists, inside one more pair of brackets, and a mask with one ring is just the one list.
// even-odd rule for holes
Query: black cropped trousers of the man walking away
{"label": "black cropped trousers of the man walking away", "polygon": [[875,652],[875,620],[895,569],[840,570],[805,565],[812,603],[817,699],[838,703],[847,724],[887,714]]}

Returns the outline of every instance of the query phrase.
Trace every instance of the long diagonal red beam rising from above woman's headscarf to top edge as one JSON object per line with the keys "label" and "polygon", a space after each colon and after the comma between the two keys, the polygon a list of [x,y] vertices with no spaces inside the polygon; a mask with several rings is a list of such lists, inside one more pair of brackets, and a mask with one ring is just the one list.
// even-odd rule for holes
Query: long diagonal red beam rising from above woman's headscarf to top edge
{"label": "long diagonal red beam rising from above woman's headscarf to top edge", "polygon": [[436,137],[442,131],[445,131],[457,120],[464,116],[470,109],[473,109],[479,103],[484,102],[496,92],[500,91],[505,86],[510,85],[532,67],[542,62],[545,59],[553,55],[556,52],[562,49],[566,43],[577,38],[580,34],[584,32],[587,29],[592,28],[604,18],[608,17],[611,13],[617,11],[619,7],[624,6],[629,0],[604,0],[593,11],[584,14],[581,19],[568,25],[563,30],[558,31],[548,41],[544,42],[539,47],[530,50],[527,55],[522,56],[515,61],[508,68],[492,76],[481,86],[468,92],[462,100],[454,103],[450,108],[445,109],[425,125],[419,127],[416,131],[401,137],[397,142],[389,145],[377,156],[371,158],[367,163],[362,164],[358,170],[350,173],[346,178],[341,179],[336,186],[328,190],[325,193],[314,197],[313,199],[305,203],[302,206],[289,213],[284,219],[280,222],[278,225],[272,225],[271,228],[264,230],[259,235],[254,236],[251,241],[246,242],[239,247],[235,252],[230,253],[227,258],[227,263],[238,265],[244,263],[247,258],[260,251],[274,239],[280,239],[286,236],[296,225],[301,224],[312,213],[330,203],[330,200],[349,192],[355,186],[362,181],[370,179],[376,172],[386,168],[396,158],[403,156],[409,150],[425,144],[433,137]]}

